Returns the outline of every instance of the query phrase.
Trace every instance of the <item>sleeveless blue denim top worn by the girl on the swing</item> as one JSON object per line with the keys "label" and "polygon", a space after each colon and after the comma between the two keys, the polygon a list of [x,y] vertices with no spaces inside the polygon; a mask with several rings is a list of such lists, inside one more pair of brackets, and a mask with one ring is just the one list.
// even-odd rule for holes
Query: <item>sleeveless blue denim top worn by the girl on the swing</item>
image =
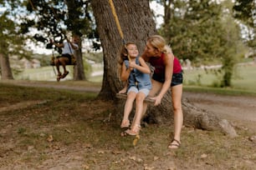
{"label": "sleeveless blue denim top worn by the girl on the swing", "polygon": [[[128,69],[129,67],[129,61],[125,60],[125,66]],[[140,64],[139,62],[139,57],[136,57],[136,64]],[[137,86],[136,86],[136,82],[137,82]],[[139,70],[137,70],[136,68],[134,68],[131,73],[130,76],[128,78],[128,89],[131,86],[137,87],[138,90],[141,90],[142,88],[147,88],[147,89],[151,89],[152,85],[151,85],[151,76],[148,73],[144,73],[141,72]]]}

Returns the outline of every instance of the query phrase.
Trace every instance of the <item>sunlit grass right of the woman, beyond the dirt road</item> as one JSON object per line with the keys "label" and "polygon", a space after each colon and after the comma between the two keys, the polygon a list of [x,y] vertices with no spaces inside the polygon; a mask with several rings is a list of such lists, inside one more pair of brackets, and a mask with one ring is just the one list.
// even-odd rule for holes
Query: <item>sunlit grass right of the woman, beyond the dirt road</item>
{"label": "sunlit grass right of the woman, beyond the dirt road", "polygon": [[219,88],[213,70],[207,73],[202,69],[184,71],[184,90],[195,92],[215,92],[224,95],[256,95],[256,65],[238,66],[232,80],[232,87]]}

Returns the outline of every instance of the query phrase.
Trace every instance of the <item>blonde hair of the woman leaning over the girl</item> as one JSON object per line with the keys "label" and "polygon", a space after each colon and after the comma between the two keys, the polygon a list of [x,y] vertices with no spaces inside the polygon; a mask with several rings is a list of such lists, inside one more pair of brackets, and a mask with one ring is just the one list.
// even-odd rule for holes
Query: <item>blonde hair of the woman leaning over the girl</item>
{"label": "blonde hair of the woman leaning over the girl", "polygon": [[152,47],[158,49],[160,52],[172,53],[172,48],[166,45],[166,40],[159,35],[153,35],[151,37],[148,37],[146,41],[149,42]]}

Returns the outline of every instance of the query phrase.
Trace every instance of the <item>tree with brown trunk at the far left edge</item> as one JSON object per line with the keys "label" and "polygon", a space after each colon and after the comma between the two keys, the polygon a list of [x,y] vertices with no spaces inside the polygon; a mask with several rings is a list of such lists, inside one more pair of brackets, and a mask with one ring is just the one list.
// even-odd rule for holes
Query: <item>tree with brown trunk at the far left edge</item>
{"label": "tree with brown trunk at the far left edge", "polygon": [[[28,57],[24,46],[23,34],[20,33],[17,20],[19,1],[0,0],[0,68],[2,79],[13,79],[9,57],[18,54],[19,57]],[[5,9],[5,10],[4,10]]]}

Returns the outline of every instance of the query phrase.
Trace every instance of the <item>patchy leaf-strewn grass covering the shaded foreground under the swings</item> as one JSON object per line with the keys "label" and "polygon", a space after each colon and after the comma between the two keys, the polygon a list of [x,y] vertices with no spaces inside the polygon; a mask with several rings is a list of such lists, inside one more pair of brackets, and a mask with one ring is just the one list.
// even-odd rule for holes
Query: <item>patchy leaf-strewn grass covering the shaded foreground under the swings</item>
{"label": "patchy leaf-strewn grass covering the shaded foreground under the swings", "polygon": [[[64,83],[73,86],[75,82]],[[77,82],[78,86],[84,84]],[[38,101],[28,107],[0,112],[0,169],[255,167],[255,143],[248,141],[255,134],[244,129],[236,129],[239,136],[234,139],[220,132],[184,127],[182,148],[170,151],[166,146],[173,127],[150,124],[142,129],[141,139],[134,147],[134,138],[120,137],[120,125],[112,121],[114,103],[96,99],[95,92],[0,85],[1,107]],[[50,136],[52,141],[48,140]]]}

